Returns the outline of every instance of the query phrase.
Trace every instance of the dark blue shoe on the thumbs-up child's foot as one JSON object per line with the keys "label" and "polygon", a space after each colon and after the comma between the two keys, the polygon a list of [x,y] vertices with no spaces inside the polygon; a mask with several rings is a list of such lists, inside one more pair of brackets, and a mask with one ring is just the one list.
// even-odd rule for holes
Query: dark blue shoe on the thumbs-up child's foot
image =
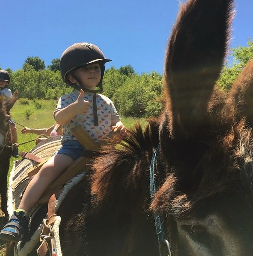
{"label": "dark blue shoe on the thumbs-up child's foot", "polygon": [[18,242],[28,231],[28,218],[26,216],[12,215],[9,222],[0,232],[0,239]]}

